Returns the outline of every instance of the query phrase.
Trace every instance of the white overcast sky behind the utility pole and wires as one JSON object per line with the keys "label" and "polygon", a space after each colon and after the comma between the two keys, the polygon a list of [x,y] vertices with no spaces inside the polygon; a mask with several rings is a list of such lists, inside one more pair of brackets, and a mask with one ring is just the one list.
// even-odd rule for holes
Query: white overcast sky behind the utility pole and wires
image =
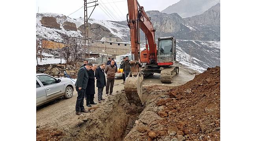
{"label": "white overcast sky behind the utility pole and wires", "polygon": [[[162,11],[178,1],[179,0],[138,0],[145,11]],[[87,0],[87,3],[88,2],[93,2],[93,0]],[[66,16],[70,14],[70,18],[83,18],[83,3],[83,0],[36,0],[36,13],[57,13]],[[98,0],[97,3],[99,5],[96,6],[92,14],[91,11],[93,7],[88,8],[88,16],[91,14],[90,18],[115,21],[126,20],[126,14],[128,13],[127,0]],[[91,3],[87,6],[93,6],[94,4],[95,3]]]}

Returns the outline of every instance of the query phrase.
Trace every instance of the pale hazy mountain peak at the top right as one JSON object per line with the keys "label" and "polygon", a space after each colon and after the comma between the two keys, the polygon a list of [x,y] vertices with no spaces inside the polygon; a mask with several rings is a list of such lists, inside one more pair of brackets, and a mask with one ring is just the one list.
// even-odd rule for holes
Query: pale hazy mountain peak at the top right
{"label": "pale hazy mountain peak at the top right", "polygon": [[220,0],[180,0],[163,11],[162,13],[178,13],[181,17],[195,16],[204,13]]}

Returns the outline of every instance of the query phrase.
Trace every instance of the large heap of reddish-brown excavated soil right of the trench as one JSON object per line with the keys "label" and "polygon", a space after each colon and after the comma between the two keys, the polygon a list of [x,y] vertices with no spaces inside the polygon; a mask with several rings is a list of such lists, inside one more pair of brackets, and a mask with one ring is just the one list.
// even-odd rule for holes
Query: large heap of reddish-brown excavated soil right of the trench
{"label": "large heap of reddish-brown excavated soil right of the trench", "polygon": [[144,92],[155,99],[147,102],[124,140],[220,140],[220,67],[208,68],[182,86],[152,86]]}

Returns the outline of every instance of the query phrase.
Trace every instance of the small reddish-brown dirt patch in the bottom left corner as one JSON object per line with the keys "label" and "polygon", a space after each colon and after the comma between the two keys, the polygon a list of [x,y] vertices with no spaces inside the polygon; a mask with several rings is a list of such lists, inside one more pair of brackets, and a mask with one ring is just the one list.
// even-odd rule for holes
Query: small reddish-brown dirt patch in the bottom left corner
{"label": "small reddish-brown dirt patch in the bottom left corner", "polygon": [[64,135],[56,129],[37,129],[37,141],[59,141]]}

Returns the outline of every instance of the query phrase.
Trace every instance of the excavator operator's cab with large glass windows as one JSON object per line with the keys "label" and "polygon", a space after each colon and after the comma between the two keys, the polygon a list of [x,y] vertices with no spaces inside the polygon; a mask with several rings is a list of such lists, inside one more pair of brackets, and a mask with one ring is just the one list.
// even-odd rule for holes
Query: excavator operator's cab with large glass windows
{"label": "excavator operator's cab with large glass windows", "polygon": [[176,40],[173,36],[158,38],[158,65],[173,65],[176,60]]}

